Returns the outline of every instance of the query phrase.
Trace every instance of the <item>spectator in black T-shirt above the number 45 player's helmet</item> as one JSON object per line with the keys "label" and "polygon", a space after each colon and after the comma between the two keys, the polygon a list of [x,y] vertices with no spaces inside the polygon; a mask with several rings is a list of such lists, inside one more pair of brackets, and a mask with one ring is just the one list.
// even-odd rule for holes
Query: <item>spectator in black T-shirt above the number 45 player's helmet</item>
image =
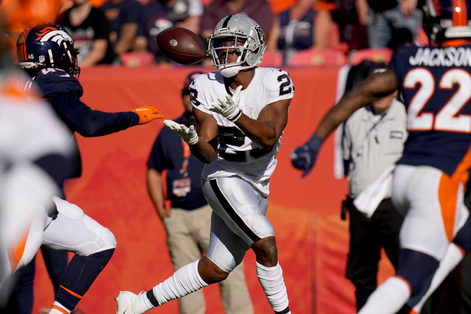
{"label": "spectator in black T-shirt above the number 45 player's helmet", "polygon": [[90,0],[74,0],[74,5],[56,20],[74,39],[78,51],[78,66],[112,63],[116,54],[109,44],[109,22],[105,14],[92,6]]}

